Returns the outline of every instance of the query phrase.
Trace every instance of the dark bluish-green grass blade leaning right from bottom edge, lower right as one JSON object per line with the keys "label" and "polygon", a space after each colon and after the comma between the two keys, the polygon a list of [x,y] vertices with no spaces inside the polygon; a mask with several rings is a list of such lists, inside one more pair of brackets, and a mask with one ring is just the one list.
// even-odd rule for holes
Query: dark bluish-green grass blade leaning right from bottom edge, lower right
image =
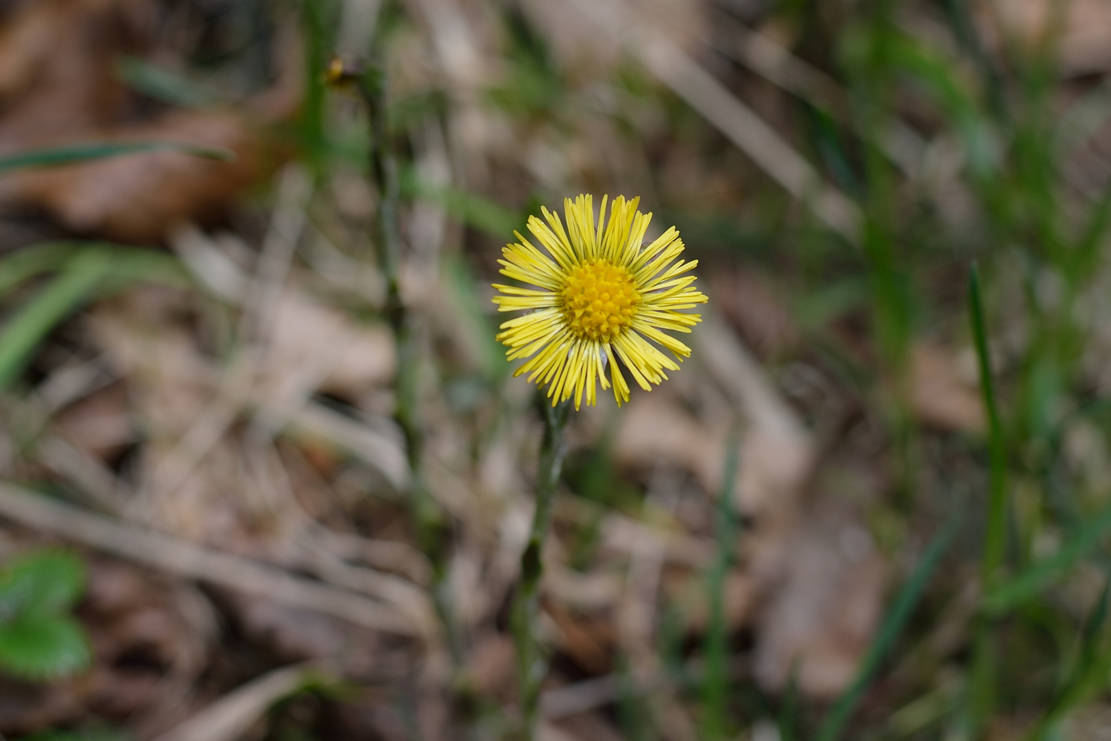
{"label": "dark bluish-green grass blade leaning right from bottom edge, lower right", "polygon": [[868,647],[868,653],[864,654],[863,660],[860,662],[857,678],[841,697],[838,698],[837,703],[822,722],[821,729],[818,731],[818,741],[837,741],[840,738],[845,723],[857,709],[857,704],[860,702],[864,690],[868,689],[883,659],[888,655],[895,639],[902,632],[903,625],[907,624],[907,621],[914,612],[919,598],[922,597],[925,585],[930,582],[930,577],[933,575],[934,570],[941,562],[941,557],[944,555],[945,550],[957,534],[959,522],[954,518],[945,525],[944,530],[934,537],[929,548],[925,549],[922,560],[914,569],[914,573],[911,574],[910,580],[899,590],[899,594],[883,619],[883,624],[880,625],[880,630],[875,633],[875,640]]}

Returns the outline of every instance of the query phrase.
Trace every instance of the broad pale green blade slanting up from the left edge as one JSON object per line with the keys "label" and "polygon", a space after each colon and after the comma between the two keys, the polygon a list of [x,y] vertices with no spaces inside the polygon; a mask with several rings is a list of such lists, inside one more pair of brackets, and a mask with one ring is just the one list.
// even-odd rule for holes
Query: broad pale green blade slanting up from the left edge
{"label": "broad pale green blade slanting up from the left edge", "polygon": [[107,251],[82,252],[16,312],[0,330],[0,390],[16,380],[50,330],[92,294],[110,267]]}

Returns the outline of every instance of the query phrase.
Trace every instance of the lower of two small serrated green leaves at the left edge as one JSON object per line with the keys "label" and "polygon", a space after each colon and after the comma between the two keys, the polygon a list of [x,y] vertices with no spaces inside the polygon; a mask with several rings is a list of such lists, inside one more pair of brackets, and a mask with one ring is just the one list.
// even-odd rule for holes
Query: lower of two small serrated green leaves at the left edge
{"label": "lower of two small serrated green leaves at the left edge", "polygon": [[28,613],[0,627],[0,667],[17,677],[64,677],[84,669],[91,659],[84,629],[69,615]]}

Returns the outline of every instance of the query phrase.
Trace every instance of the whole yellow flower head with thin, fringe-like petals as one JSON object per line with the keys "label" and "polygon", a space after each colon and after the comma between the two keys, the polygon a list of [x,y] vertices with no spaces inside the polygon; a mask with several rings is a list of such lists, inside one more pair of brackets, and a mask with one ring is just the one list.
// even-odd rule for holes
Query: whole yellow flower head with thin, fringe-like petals
{"label": "whole yellow flower head with thin, fringe-like petals", "polygon": [[629,401],[629,384],[619,364],[640,388],[651,391],[652,383],[668,378],[665,369],[679,370],[657,344],[675,359],[691,353],[661,330],[690,332],[701,317],[682,310],[707,301],[691,286],[694,276],[685,274],[698,260],[675,262],[683,251],[675,228],[644,247],[652,214],[637,210],[639,198],[627,201],[618,196],[603,230],[607,198],[602,197],[597,228],[590,196],[563,200],[565,231],[559,216],[548,209],[543,209],[547,224],[529,217],[529,231],[547,254],[513,232],[519,242],[506,246],[504,259],[498,261],[502,276],[539,288],[494,283],[500,296],[493,302],[499,311],[529,312],[504,322],[498,340],[509,347],[509,360],[529,358],[514,375],[528,372],[529,381],[548,384],[552,405],[573,394],[579,409],[584,392],[587,403],[593,404],[595,379],[603,390],[610,388],[607,364],[619,405]]}

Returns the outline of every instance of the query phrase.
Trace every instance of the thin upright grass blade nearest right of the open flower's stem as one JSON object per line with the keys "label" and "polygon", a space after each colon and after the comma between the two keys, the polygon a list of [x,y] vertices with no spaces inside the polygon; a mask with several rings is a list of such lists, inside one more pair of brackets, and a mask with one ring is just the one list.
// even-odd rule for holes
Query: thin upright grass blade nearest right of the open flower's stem
{"label": "thin upright grass blade nearest right of the open flower's stem", "polygon": [[728,639],[725,624],[725,577],[737,548],[737,515],[733,512],[733,488],[738,469],[738,439],[729,435],[725,442],[725,467],[721,474],[718,494],[718,553],[709,579],[710,625],[703,647],[705,674],[702,679],[703,738],[714,741],[725,738],[725,705],[729,698]]}

